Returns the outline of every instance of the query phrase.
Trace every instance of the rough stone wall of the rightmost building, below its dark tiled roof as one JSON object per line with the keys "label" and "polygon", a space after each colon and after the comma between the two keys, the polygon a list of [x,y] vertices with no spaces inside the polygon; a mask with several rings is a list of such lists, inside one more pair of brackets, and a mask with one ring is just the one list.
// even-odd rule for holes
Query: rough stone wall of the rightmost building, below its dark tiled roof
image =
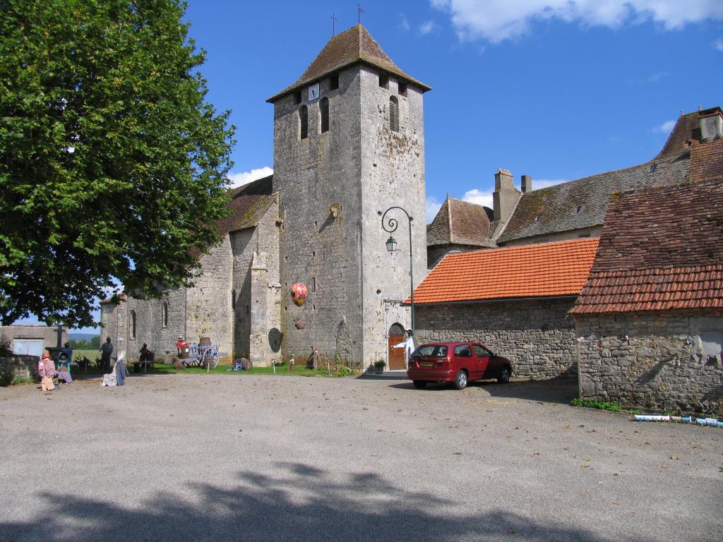
{"label": "rough stone wall of the rightmost building, below its dark tiled roof", "polygon": [[716,343],[723,337],[723,317],[578,317],[576,331],[584,399],[676,412],[723,410]]}

